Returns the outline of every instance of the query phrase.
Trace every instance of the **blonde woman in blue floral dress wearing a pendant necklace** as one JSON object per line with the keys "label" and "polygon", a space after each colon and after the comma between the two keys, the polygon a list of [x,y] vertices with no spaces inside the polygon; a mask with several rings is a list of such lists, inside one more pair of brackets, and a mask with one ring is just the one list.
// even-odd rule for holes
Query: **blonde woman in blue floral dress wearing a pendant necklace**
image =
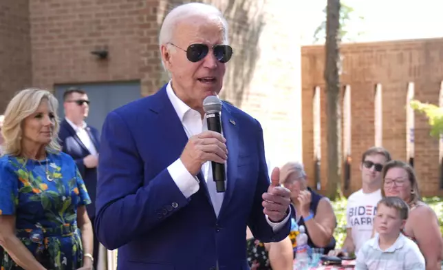
{"label": "blonde woman in blue floral dress wearing a pendant necklace", "polygon": [[58,103],[19,92],[6,108],[0,158],[1,270],[91,269],[91,203],[74,160],[57,143]]}

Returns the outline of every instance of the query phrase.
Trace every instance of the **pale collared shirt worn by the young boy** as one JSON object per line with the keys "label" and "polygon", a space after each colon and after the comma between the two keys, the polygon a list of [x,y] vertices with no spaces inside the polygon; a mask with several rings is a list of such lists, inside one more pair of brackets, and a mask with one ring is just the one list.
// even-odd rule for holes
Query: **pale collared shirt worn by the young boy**
{"label": "pale collared shirt worn by the young boy", "polygon": [[378,233],[369,239],[357,254],[356,270],[425,270],[425,262],[418,245],[402,233],[384,251],[379,246]]}

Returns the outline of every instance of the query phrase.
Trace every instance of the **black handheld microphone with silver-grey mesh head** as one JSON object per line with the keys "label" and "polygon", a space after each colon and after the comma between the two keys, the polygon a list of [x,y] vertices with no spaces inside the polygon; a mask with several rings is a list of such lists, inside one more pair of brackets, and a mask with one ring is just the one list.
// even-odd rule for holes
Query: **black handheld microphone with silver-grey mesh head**
{"label": "black handheld microphone with silver-grey mesh head", "polygon": [[[217,96],[208,96],[204,98],[203,110],[206,113],[208,130],[221,134],[222,121],[220,120],[220,112],[222,111],[222,101],[220,101]],[[213,166],[213,180],[215,181],[217,192],[224,192],[224,181],[226,180],[224,163],[217,163],[215,161],[211,161],[211,163]]]}

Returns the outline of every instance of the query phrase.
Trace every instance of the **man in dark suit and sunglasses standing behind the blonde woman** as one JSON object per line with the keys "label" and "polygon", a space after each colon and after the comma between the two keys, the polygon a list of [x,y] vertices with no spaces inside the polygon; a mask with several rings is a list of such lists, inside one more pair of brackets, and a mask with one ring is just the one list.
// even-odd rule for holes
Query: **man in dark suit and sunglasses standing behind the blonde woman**
{"label": "man in dark suit and sunglasses standing behind the blonde woman", "polygon": [[[60,138],[63,152],[74,158],[92,203],[87,205],[87,213],[94,224],[97,187],[98,149],[100,147],[98,130],[87,125],[85,118],[89,113],[89,99],[85,91],[69,88],[63,95],[65,119],[61,122]],[[94,268],[98,261],[98,240],[94,233]]]}

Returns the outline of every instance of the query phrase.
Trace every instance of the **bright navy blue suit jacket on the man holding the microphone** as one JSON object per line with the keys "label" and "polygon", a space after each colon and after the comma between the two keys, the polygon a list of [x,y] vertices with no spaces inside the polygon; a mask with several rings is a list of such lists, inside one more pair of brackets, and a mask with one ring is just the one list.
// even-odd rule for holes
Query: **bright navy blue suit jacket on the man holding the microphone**
{"label": "bright navy blue suit jacket on the man holding the microphone", "polygon": [[257,120],[224,103],[228,147],[227,187],[219,216],[201,174],[186,199],[167,167],[188,141],[162,89],[107,115],[98,165],[96,232],[107,249],[118,248],[119,270],[249,269],[246,225],[263,242],[283,240],[263,214],[270,180]]}

